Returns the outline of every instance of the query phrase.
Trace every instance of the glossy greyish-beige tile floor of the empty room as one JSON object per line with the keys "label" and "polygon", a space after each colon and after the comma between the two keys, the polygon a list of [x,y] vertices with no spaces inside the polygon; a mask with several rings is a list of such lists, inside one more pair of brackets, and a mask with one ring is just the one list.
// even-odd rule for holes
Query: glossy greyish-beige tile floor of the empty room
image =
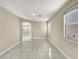
{"label": "glossy greyish-beige tile floor of the empty room", "polygon": [[66,59],[48,40],[35,39],[19,44],[0,59]]}

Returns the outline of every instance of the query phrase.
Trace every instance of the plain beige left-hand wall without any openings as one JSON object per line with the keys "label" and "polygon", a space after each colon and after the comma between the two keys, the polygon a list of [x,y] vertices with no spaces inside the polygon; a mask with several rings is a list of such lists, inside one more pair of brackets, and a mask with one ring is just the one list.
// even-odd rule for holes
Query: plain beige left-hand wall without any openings
{"label": "plain beige left-hand wall without any openings", "polygon": [[19,19],[0,7],[0,53],[19,42]]}

